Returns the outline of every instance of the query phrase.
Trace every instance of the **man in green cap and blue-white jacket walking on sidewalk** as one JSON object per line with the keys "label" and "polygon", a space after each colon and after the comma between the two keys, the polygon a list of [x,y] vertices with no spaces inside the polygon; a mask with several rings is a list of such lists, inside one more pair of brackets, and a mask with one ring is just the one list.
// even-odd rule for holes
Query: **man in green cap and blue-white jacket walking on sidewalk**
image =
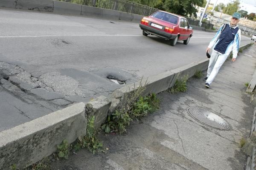
{"label": "man in green cap and blue-white jacket walking on sidewalk", "polygon": [[232,62],[236,61],[239,51],[241,30],[237,27],[241,14],[234,13],[229,24],[223,24],[206,49],[208,53],[212,49],[212,55],[209,60],[207,77],[205,77],[205,87],[209,88],[215,79],[221,65],[225,62],[230,52],[233,51]]}

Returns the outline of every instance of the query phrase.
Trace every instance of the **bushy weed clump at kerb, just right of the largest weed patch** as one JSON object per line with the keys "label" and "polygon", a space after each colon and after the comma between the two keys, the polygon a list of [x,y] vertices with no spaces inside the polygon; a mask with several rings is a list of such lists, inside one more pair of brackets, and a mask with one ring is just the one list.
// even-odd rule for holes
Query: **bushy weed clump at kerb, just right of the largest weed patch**
{"label": "bushy weed clump at kerb, just right of the largest weed patch", "polygon": [[183,76],[179,78],[179,75],[175,81],[175,85],[172,88],[169,88],[167,91],[172,94],[177,94],[178,92],[185,92],[187,90],[186,82],[188,76]]}

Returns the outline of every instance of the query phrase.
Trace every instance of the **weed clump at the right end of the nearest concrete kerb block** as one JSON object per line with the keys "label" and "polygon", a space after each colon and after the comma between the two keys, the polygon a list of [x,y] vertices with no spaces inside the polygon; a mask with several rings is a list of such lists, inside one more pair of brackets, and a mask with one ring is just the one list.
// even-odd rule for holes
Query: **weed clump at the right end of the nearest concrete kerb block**
{"label": "weed clump at the right end of the nearest concrete kerb block", "polygon": [[74,145],[73,149],[80,150],[87,148],[95,154],[96,152],[104,152],[102,149],[103,144],[96,137],[96,130],[94,127],[95,116],[90,116],[87,124],[86,136],[79,137],[78,142]]}

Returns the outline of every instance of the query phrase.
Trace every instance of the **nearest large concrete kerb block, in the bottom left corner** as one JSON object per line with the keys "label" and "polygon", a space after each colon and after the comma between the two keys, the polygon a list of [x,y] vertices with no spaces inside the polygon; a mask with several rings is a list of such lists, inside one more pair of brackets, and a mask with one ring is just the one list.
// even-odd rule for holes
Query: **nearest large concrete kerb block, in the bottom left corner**
{"label": "nearest large concrete kerb block, in the bottom left corner", "polygon": [[63,139],[74,142],[86,135],[85,104],[78,103],[0,132],[0,170],[23,167],[56,151]]}

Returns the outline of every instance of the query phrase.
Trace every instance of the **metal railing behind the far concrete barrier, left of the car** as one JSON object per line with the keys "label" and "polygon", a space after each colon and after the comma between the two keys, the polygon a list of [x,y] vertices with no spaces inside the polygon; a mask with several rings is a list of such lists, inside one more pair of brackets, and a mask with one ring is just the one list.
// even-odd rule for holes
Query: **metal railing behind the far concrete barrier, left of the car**
{"label": "metal railing behind the far concrete barrier, left of the car", "polygon": [[128,12],[148,16],[158,11],[156,8],[144,6],[127,0],[59,0],[68,3],[77,3],[86,6],[94,6],[97,8],[111,9],[115,11]]}

